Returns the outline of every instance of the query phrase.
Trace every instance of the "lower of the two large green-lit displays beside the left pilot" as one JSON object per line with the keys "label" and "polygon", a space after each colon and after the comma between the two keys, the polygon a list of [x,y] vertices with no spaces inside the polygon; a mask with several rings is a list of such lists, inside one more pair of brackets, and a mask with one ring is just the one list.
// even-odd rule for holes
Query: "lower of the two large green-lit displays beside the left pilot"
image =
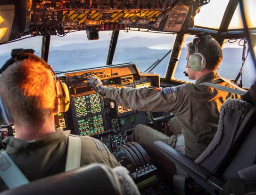
{"label": "lower of the two large green-lit displays beside the left pilot", "polygon": [[95,115],[78,120],[80,136],[96,135],[104,132],[102,115]]}

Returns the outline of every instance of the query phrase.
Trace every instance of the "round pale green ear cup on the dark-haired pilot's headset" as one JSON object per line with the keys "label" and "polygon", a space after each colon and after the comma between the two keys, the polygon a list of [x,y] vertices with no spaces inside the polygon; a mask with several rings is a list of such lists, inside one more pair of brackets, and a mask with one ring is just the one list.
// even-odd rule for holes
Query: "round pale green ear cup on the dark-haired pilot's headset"
{"label": "round pale green ear cup on the dark-haired pilot's headset", "polygon": [[205,56],[201,53],[194,53],[190,55],[188,60],[190,69],[193,71],[204,70],[206,67],[206,59]]}

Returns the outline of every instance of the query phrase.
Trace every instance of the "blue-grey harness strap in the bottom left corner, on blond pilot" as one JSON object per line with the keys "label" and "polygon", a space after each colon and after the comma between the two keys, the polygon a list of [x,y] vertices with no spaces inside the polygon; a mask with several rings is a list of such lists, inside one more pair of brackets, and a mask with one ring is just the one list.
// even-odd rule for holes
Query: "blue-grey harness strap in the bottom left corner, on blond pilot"
{"label": "blue-grey harness strap in the bottom left corner, on blond pilot", "polygon": [[0,176],[9,189],[29,183],[29,180],[20,171],[6,151],[0,153]]}

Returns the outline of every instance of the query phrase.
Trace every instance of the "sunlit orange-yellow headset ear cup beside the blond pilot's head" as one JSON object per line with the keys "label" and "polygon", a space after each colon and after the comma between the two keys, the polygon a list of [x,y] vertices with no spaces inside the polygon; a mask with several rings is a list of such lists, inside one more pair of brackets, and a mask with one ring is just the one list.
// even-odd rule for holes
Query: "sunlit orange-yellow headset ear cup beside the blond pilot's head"
{"label": "sunlit orange-yellow headset ear cup beside the blond pilot's head", "polygon": [[69,97],[69,92],[66,84],[57,81],[56,91],[58,96],[57,108],[55,108],[56,112],[57,113],[66,112],[70,104],[70,97]]}

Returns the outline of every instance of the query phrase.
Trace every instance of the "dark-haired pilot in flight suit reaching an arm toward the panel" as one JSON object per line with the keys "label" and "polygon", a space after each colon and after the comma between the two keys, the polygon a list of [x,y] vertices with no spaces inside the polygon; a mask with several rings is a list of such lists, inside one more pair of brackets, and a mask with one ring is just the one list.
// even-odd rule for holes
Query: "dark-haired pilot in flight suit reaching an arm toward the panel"
{"label": "dark-haired pilot in flight suit reaching an arm toward the panel", "polygon": [[173,113],[175,117],[169,120],[166,135],[149,126],[137,125],[132,138],[149,150],[156,140],[162,140],[175,148],[177,136],[170,135],[182,132],[185,155],[195,160],[215,136],[223,102],[228,98],[239,98],[239,95],[201,85],[203,82],[210,82],[236,88],[229,80],[223,78],[226,82],[220,79],[215,71],[223,59],[223,54],[219,43],[210,35],[198,34],[193,42],[188,44],[186,59],[188,77],[196,80],[195,83],[163,89],[133,89],[103,86],[95,76],[90,76],[87,82],[98,93],[117,101],[127,109]]}

